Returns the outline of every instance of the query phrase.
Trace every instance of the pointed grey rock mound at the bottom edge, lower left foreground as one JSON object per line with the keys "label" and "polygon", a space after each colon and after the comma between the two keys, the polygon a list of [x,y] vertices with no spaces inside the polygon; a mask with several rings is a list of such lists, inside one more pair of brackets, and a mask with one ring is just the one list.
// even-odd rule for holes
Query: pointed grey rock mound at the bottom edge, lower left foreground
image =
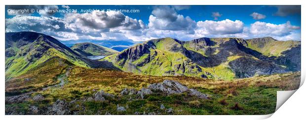
{"label": "pointed grey rock mound at the bottom edge, lower left foreground", "polygon": [[68,115],[70,110],[68,109],[68,104],[64,100],[56,100],[53,103],[51,109],[48,111],[48,115]]}

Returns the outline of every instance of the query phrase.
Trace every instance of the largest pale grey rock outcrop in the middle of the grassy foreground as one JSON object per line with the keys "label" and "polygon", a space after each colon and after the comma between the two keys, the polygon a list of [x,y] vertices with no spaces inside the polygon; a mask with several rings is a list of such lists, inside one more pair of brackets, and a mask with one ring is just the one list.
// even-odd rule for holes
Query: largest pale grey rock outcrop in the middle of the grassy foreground
{"label": "largest pale grey rock outcrop in the middle of the grassy foreground", "polygon": [[[137,92],[138,95],[143,99],[144,95],[152,94],[154,92],[163,92],[166,94],[181,94],[183,92],[188,92],[189,95],[197,96],[200,99],[208,99],[206,94],[203,94],[194,89],[188,89],[186,86],[182,85],[177,81],[164,80],[162,83],[154,83],[148,86],[148,88],[142,88]],[[128,89],[123,89],[121,91],[122,95],[127,95]],[[133,92],[135,93],[135,92]],[[163,105],[160,108],[164,108]]]}

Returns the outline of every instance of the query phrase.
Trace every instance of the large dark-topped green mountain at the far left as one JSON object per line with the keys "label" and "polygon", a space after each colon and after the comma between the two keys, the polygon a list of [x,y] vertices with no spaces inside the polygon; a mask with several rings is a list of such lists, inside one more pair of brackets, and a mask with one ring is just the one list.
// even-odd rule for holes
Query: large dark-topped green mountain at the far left
{"label": "large dark-topped green mountain at the far left", "polygon": [[6,79],[24,74],[53,57],[89,67],[84,58],[51,36],[30,31],[5,33]]}

